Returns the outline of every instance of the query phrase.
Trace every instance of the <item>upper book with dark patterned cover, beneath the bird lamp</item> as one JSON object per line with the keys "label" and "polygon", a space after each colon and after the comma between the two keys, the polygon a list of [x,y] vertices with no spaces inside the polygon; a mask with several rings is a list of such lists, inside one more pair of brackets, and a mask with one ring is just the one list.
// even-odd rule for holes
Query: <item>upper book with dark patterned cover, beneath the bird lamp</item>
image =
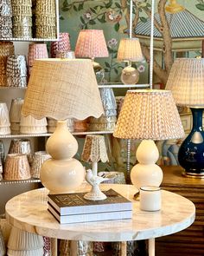
{"label": "upper book with dark patterned cover, beneath the bird lamp", "polygon": [[86,193],[48,194],[48,203],[60,215],[131,211],[132,202],[113,189],[104,191],[105,200],[86,200]]}

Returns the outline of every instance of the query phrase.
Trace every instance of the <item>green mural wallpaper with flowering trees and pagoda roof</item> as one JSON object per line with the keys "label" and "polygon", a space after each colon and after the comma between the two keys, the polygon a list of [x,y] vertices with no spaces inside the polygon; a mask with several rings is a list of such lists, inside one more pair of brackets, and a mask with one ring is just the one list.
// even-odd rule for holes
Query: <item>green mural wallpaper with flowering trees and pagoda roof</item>
{"label": "green mural wallpaper with flowering trees and pagoda roof", "polygon": [[[165,86],[175,57],[201,56],[204,40],[203,14],[204,0],[156,0],[154,82],[158,83],[161,89]],[[133,0],[132,36],[139,38],[145,59],[143,62],[133,63],[140,72],[139,83],[149,82],[150,16],[151,1]],[[130,33],[130,1],[60,0],[60,18],[61,32],[69,33],[73,50],[80,30],[104,30],[109,57],[97,61],[105,69],[107,82],[120,82],[121,70],[124,69],[125,63],[117,61],[117,52],[120,39],[128,37]],[[126,141],[112,140],[112,161],[117,169],[123,170],[126,161]],[[181,141],[158,142],[160,162],[177,164],[176,154],[180,143]],[[137,141],[133,141],[131,165],[135,164],[136,148]]]}

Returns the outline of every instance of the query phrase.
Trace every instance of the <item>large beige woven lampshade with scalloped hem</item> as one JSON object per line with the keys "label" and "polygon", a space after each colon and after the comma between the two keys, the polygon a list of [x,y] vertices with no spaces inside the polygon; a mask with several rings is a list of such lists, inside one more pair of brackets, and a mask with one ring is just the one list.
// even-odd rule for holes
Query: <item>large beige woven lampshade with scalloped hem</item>
{"label": "large beige woven lampshade with scalloped hem", "polygon": [[32,115],[36,119],[83,120],[103,113],[91,60],[35,60],[22,115]]}

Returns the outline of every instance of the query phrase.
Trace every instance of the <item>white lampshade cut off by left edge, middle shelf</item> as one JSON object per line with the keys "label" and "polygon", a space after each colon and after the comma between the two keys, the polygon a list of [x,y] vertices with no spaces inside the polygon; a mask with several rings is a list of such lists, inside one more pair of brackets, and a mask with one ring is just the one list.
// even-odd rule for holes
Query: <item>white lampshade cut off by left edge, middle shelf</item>
{"label": "white lampshade cut off by left edge, middle shelf", "polygon": [[5,102],[0,102],[0,135],[10,135],[10,115]]}

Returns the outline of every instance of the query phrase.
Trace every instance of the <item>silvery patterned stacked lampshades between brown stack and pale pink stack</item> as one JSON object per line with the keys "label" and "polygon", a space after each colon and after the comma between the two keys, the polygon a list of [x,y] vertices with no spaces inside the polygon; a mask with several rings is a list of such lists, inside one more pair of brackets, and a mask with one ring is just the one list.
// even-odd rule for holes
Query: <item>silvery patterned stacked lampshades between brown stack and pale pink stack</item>
{"label": "silvery patterned stacked lampshades between brown stack and pale pink stack", "polygon": [[27,63],[25,56],[8,56],[6,79],[8,87],[25,88],[27,86]]}

